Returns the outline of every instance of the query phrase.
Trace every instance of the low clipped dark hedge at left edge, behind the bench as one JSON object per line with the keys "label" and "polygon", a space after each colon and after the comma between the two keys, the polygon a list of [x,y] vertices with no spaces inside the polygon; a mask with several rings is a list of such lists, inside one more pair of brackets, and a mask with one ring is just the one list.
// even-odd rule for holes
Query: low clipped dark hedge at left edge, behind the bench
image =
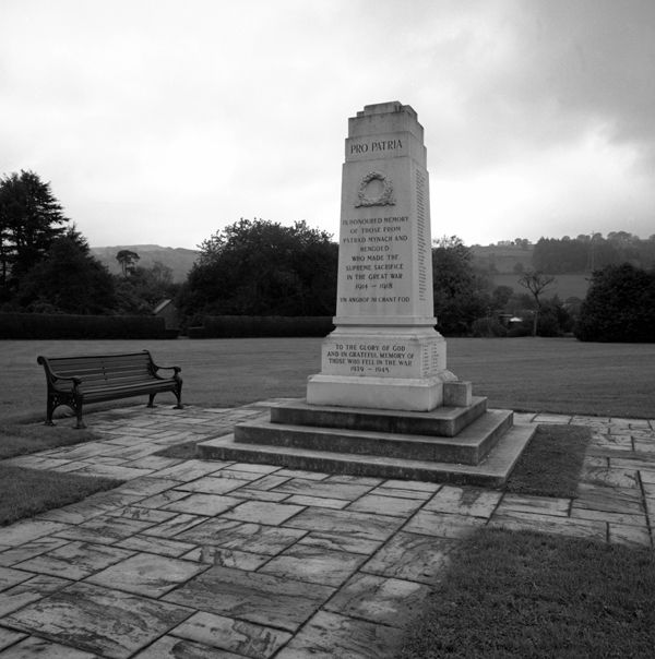
{"label": "low clipped dark hedge at left edge, behind the bench", "polygon": [[0,313],[0,338],[174,338],[163,317]]}

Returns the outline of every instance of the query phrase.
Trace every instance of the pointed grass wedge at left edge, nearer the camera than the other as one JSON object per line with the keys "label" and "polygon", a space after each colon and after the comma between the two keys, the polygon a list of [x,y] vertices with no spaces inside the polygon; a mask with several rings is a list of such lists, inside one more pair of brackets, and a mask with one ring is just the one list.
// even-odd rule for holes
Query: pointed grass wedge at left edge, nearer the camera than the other
{"label": "pointed grass wedge at left edge, nearer the camera than the other", "polygon": [[85,496],[118,488],[123,481],[0,465],[0,526],[32,517]]}

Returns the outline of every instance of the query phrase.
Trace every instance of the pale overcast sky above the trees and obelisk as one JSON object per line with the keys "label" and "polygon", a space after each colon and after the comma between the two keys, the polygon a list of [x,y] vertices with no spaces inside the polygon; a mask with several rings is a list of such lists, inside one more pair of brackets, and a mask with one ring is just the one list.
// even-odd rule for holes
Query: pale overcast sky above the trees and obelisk
{"label": "pale overcast sky above the trees and obelisk", "polygon": [[0,0],[0,175],[94,247],[336,238],[347,119],[388,100],[434,238],[655,233],[655,0]]}

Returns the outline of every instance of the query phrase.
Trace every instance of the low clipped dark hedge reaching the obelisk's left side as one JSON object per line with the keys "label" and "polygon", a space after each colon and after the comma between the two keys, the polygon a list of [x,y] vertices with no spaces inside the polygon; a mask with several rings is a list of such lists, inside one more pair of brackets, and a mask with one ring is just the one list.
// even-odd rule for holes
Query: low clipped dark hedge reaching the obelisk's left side
{"label": "low clipped dark hedge reaching the obelisk's left side", "polygon": [[333,330],[329,315],[212,315],[203,319],[202,327],[190,327],[189,338],[325,336]]}

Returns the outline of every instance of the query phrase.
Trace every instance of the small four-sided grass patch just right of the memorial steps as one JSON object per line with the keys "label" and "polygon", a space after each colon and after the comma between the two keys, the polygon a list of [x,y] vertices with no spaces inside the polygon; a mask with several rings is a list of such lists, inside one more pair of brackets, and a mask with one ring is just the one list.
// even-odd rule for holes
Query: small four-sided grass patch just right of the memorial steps
{"label": "small four-sided grass patch just right of the memorial steps", "polygon": [[577,496],[584,453],[592,431],[581,426],[539,426],[514,467],[507,492]]}

